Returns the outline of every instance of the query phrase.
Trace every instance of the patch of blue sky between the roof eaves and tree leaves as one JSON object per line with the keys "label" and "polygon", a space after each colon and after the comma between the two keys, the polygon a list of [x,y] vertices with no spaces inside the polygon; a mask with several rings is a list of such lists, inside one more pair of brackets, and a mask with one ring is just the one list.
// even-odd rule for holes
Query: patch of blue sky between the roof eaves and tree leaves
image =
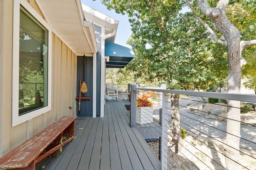
{"label": "patch of blue sky between the roof eaves and tree leaves", "polygon": [[116,21],[119,21],[114,43],[131,48],[130,45],[126,44],[126,41],[132,34],[127,16],[116,14],[114,10],[107,10],[106,6],[102,5],[101,0],[81,0],[81,2],[82,4],[86,4],[87,6],[90,6],[91,8],[94,8],[95,10],[100,11],[107,16],[114,18]]}

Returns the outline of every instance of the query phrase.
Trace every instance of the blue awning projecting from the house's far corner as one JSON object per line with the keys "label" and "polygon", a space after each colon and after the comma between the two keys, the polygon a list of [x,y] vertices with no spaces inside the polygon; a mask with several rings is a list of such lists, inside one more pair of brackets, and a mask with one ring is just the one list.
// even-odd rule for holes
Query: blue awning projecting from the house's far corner
{"label": "blue awning projecting from the house's far corner", "polygon": [[131,49],[105,41],[105,56],[109,56],[106,68],[124,68],[134,57]]}

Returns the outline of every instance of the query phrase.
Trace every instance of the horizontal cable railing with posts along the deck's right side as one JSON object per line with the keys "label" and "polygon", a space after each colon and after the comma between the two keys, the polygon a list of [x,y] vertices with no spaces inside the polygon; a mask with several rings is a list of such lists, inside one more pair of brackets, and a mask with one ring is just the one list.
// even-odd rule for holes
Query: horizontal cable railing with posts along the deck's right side
{"label": "horizontal cable railing with posts along the deck's right side", "polygon": [[[130,126],[138,128],[163,170],[226,170],[230,161],[238,168],[256,170],[256,111],[252,107],[256,95],[165,87],[137,88],[132,84],[130,88]],[[136,101],[141,94],[148,94],[153,106],[139,112],[143,107],[136,107]],[[238,101],[240,106],[230,108],[228,100]],[[239,109],[240,117],[228,117],[228,109]],[[227,122],[239,123],[240,133],[228,132]],[[239,147],[227,142],[227,135],[238,139]],[[227,149],[237,157],[227,154]]]}

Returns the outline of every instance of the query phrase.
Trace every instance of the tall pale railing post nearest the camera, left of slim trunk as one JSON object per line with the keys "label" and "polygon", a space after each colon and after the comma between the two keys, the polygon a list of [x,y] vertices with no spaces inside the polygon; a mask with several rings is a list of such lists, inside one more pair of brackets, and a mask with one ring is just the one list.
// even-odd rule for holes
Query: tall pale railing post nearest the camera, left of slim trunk
{"label": "tall pale railing post nearest the camera, left of slim trunk", "polygon": [[167,170],[168,156],[168,93],[162,94],[162,137],[161,137],[161,164],[162,170]]}

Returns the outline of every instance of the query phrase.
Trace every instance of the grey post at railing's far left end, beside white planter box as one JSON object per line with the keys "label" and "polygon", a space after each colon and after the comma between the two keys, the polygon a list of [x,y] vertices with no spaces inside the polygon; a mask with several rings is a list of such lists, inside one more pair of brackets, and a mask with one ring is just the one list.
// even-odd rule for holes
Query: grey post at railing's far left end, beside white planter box
{"label": "grey post at railing's far left end, beside white planter box", "polygon": [[136,127],[136,84],[131,85],[130,127]]}

